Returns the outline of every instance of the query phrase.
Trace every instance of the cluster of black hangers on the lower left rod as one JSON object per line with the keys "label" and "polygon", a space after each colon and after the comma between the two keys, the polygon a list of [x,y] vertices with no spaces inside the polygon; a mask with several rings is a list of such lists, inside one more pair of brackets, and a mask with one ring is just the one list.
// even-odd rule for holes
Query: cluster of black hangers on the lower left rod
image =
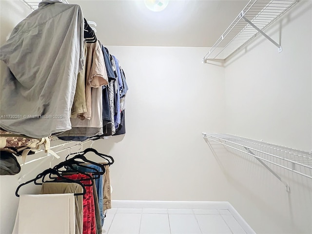
{"label": "cluster of black hangers on the lower left rod", "polygon": [[[85,154],[87,154],[88,152],[92,152],[92,153],[96,154],[97,156],[105,159],[105,162],[98,163],[98,162],[95,162],[95,161],[92,161],[92,160],[86,158]],[[68,158],[71,155],[75,155],[75,156]],[[80,159],[80,160],[78,160],[78,159]],[[65,161],[60,162],[59,164],[57,164],[53,168],[48,168],[48,169],[44,170],[43,172],[39,173],[34,179],[28,180],[27,182],[20,184],[18,186],[16,192],[15,192],[15,195],[19,197],[20,195],[18,192],[19,192],[20,188],[26,184],[31,183],[31,182],[34,182],[36,185],[42,185],[43,183],[49,183],[49,182],[77,183],[80,186],[82,186],[83,192],[78,193],[78,194],[74,194],[74,195],[84,195],[86,193],[85,186],[93,186],[94,179],[97,179],[100,175],[104,175],[105,166],[106,165],[112,165],[113,163],[114,163],[114,158],[112,156],[101,154],[93,148],[87,148],[81,153],[71,153],[71,154],[68,154],[68,156],[66,156]],[[93,167],[89,167],[88,165],[96,165],[101,170],[99,171]],[[92,171],[91,175],[90,175],[90,173],[82,172],[81,170],[78,169],[77,166],[91,170]],[[62,168],[65,168],[65,169],[70,168],[70,170],[61,170]],[[74,180],[74,179],[70,179],[70,178],[63,175],[63,174],[68,175],[69,173],[83,174],[83,175],[88,177],[87,178],[88,180],[91,180],[91,183],[90,184],[83,184],[83,183],[81,183],[81,181],[86,180],[86,179]],[[40,181],[40,179],[41,179],[41,181]]]}

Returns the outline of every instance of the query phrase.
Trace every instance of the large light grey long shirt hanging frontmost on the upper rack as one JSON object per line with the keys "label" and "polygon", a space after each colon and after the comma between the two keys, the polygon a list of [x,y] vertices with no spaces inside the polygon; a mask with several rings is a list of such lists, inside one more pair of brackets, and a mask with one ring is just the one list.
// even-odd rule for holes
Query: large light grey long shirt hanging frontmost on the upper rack
{"label": "large light grey long shirt hanging frontmost on the upper rack", "polygon": [[0,48],[7,66],[0,112],[14,118],[1,119],[1,128],[34,138],[71,129],[70,111],[84,63],[83,21],[79,5],[43,0],[13,29]]}

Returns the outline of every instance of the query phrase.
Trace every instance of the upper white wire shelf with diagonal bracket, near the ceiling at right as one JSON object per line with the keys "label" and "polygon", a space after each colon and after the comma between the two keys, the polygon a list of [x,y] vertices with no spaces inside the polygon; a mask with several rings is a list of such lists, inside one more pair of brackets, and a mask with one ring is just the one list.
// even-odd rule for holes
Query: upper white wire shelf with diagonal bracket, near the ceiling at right
{"label": "upper white wire shelf with diagonal bracket, near the ceiling at right", "polygon": [[221,37],[202,59],[207,60],[228,58],[243,47],[258,33],[269,39],[282,51],[282,46],[270,38],[263,30],[274,20],[291,8],[299,0],[250,0]]}

